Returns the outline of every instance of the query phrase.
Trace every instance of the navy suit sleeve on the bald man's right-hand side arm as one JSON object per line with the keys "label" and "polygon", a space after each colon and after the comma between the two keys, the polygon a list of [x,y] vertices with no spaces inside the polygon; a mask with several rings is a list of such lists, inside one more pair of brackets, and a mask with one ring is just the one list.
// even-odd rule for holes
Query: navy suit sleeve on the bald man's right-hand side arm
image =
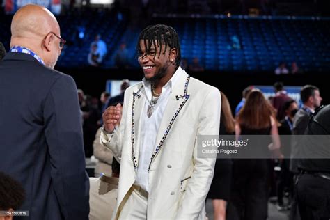
{"label": "navy suit sleeve on the bald man's right-hand side arm", "polygon": [[59,77],[47,94],[45,136],[54,191],[64,219],[88,219],[89,180],[74,80]]}

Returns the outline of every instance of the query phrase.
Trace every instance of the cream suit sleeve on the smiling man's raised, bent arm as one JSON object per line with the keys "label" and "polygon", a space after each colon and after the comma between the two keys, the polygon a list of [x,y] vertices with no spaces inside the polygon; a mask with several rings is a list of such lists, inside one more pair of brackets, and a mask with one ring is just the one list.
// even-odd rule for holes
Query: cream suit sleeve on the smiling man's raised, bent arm
{"label": "cream suit sleeve on the smiling man's raised, bent arm", "polygon": [[118,162],[121,160],[121,151],[123,148],[123,134],[126,125],[127,109],[128,109],[128,89],[125,91],[124,95],[124,103],[123,103],[123,113],[120,120],[120,125],[115,127],[113,130],[113,134],[105,134],[103,131],[101,132],[101,143],[106,148],[109,148],[113,153],[113,157],[117,159]]}

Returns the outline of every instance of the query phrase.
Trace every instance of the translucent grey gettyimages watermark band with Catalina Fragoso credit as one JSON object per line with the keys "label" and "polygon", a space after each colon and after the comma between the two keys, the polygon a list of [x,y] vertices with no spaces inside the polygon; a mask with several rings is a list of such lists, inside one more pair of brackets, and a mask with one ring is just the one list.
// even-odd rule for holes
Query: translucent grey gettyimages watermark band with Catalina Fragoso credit
{"label": "translucent grey gettyimages watermark band with Catalina Fragoso credit", "polygon": [[[197,144],[199,158],[272,159],[279,149],[286,159],[330,159],[330,135],[199,135]],[[304,148],[292,157],[292,145]]]}

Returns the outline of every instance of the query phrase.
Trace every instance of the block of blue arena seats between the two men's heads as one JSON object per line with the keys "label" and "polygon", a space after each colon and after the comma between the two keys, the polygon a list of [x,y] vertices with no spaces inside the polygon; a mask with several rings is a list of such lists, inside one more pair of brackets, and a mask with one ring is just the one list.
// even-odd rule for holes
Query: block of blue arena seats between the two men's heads
{"label": "block of blue arena seats between the two men's heads", "polygon": [[[95,35],[100,34],[107,44],[108,56],[104,67],[111,66],[109,57],[125,31],[126,21],[118,21],[115,14],[104,10],[73,11],[57,17],[61,26],[62,38],[68,41],[58,60],[58,65],[81,67],[87,65],[87,56]],[[79,32],[84,30],[84,38],[79,40]]]}

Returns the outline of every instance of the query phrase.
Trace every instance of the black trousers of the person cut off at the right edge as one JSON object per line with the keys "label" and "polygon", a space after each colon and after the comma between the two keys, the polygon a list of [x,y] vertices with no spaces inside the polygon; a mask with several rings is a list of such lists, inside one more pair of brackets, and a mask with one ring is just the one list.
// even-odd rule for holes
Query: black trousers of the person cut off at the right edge
{"label": "black trousers of the person cut off at the right edge", "polygon": [[297,183],[301,220],[330,219],[330,180],[302,174]]}

